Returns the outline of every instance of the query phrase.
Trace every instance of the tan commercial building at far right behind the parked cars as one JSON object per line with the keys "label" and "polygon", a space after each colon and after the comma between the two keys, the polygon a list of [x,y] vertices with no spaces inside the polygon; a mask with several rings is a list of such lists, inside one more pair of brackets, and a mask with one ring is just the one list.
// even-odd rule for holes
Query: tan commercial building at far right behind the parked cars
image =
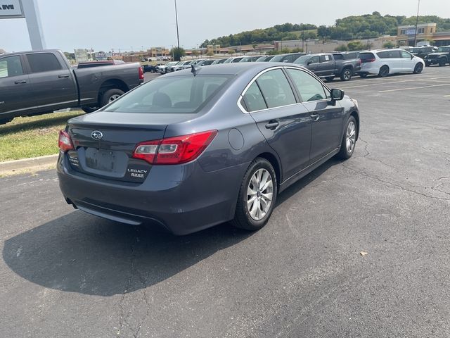
{"label": "tan commercial building at far right behind the parked cars", "polygon": [[397,42],[401,46],[414,46],[414,38],[416,44],[418,42],[434,42],[435,46],[450,45],[450,32],[436,32],[435,23],[420,23],[417,25],[399,26],[397,27]]}

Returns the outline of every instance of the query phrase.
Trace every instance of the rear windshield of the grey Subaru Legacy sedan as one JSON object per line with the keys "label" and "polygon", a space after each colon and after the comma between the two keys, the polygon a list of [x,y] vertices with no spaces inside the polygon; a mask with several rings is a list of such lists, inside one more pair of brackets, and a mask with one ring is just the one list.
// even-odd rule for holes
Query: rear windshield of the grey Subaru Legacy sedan
{"label": "rear windshield of the grey Subaru Legacy sedan", "polygon": [[197,113],[231,76],[161,77],[142,84],[103,110],[118,113]]}

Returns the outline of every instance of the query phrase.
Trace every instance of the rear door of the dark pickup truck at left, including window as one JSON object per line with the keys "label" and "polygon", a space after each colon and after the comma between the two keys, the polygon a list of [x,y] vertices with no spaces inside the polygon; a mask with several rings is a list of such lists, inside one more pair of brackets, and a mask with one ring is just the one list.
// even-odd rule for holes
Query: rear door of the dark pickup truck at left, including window
{"label": "rear door of the dark pickup truck at left, including window", "polygon": [[30,68],[31,93],[40,108],[77,106],[78,93],[72,70],[53,53],[25,54]]}

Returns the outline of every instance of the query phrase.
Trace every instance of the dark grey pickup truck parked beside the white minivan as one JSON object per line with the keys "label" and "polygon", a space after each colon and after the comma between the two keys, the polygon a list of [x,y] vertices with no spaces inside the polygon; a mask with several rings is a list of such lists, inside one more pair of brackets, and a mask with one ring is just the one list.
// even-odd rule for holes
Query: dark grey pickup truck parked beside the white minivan
{"label": "dark grey pickup truck parked beside the white minivan", "polygon": [[[359,58],[346,59],[343,54],[321,53],[308,54],[297,58],[294,63],[303,65],[319,77],[325,78],[327,81],[333,80],[336,76],[340,77],[342,81],[352,79],[355,73],[361,70],[361,60]],[[341,58],[342,56],[342,58]]]}

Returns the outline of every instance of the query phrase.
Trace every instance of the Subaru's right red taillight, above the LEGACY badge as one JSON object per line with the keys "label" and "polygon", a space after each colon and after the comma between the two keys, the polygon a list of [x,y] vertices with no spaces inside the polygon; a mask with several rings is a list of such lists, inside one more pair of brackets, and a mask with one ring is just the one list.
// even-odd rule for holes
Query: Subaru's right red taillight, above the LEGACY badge
{"label": "Subaru's right red taillight, above the LEGACY badge", "polygon": [[217,130],[210,130],[141,142],[134,149],[133,158],[140,158],[153,165],[187,163],[198,158],[216,135]]}

